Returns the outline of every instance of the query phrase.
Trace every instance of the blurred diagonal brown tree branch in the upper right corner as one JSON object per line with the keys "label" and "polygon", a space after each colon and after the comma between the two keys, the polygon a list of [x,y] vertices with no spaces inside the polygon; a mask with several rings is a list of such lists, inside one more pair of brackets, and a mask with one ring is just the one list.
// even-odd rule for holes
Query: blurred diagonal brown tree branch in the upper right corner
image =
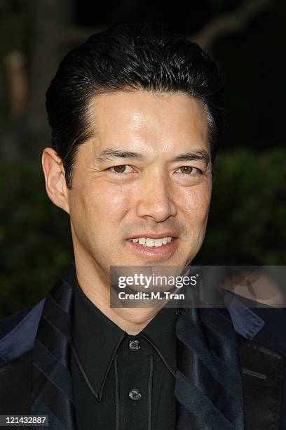
{"label": "blurred diagonal brown tree branch in the upper right corner", "polygon": [[201,48],[211,51],[217,39],[226,34],[245,30],[250,21],[269,8],[271,4],[273,4],[273,0],[243,1],[243,4],[235,11],[218,15],[189,39],[196,41]]}

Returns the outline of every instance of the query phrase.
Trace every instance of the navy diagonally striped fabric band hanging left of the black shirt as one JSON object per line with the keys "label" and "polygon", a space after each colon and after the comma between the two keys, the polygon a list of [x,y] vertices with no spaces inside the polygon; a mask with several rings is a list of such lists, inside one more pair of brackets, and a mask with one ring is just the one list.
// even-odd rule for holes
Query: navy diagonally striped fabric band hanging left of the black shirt
{"label": "navy diagonally striped fabric band hanging left of the black shirt", "polygon": [[74,265],[46,298],[36,333],[32,367],[31,414],[48,415],[52,429],[75,429],[71,353]]}

